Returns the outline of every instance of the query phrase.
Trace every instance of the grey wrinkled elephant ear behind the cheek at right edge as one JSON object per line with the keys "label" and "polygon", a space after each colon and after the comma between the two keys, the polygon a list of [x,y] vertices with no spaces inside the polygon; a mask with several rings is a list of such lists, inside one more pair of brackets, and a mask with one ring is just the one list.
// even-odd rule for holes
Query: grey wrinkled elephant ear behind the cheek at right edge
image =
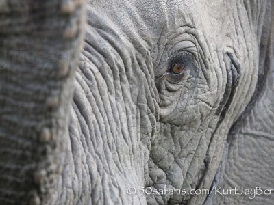
{"label": "grey wrinkled elephant ear behind the cheek at right edge", "polygon": [[[247,11],[255,6],[249,5]],[[244,113],[227,136],[222,162],[212,189],[222,193],[227,189],[257,189],[257,195],[221,195],[208,197],[205,204],[272,204],[274,194],[274,3],[266,4],[266,12],[258,25],[260,44],[258,83]],[[256,12],[250,12],[250,18]],[[253,18],[254,19],[254,18]],[[262,190],[262,191],[261,191]]]}

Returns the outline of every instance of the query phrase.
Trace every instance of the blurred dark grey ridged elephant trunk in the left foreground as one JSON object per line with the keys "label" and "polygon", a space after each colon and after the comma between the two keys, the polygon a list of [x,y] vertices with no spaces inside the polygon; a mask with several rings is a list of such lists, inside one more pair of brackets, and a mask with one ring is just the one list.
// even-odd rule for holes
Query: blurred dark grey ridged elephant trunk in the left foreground
{"label": "blurred dark grey ridged elephant trunk in the left foreground", "polygon": [[0,204],[53,200],[83,36],[82,4],[1,2]]}

